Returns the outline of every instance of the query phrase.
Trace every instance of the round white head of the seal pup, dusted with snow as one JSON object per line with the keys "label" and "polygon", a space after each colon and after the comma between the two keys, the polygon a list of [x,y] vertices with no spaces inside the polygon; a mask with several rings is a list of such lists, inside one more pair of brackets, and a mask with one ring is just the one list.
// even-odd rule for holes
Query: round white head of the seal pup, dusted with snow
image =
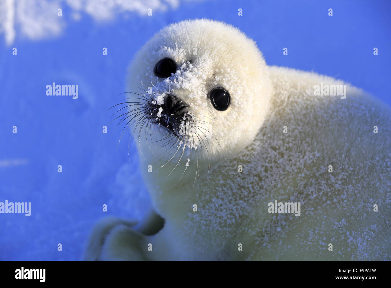
{"label": "round white head of the seal pup, dusted with snow", "polygon": [[136,54],[128,75],[130,109],[122,117],[131,120],[135,136],[142,135],[136,142],[151,151],[189,147],[209,157],[235,154],[253,141],[269,108],[262,54],[222,22],[163,28]]}

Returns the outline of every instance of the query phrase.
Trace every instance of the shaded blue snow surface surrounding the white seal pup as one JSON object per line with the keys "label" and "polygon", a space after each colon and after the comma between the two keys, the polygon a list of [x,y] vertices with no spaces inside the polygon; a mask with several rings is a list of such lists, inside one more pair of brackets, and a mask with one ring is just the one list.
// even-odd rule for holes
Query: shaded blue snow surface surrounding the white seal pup
{"label": "shaded blue snow surface surrounding the white seal pup", "polygon": [[[295,2],[184,2],[152,17],[129,14],[97,23],[83,15],[46,40],[17,37],[7,46],[1,35],[0,161],[27,163],[0,167],[0,201],[31,202],[32,215],[0,214],[0,260],[79,260],[100,217],[140,219],[145,213],[150,199],[135,146],[130,143],[129,162],[129,135],[117,149],[121,130],[114,130],[117,122],[108,125],[111,114],[105,112],[125,98],[117,94],[125,91],[133,55],[167,24],[222,20],[253,38],[269,65],[334,76],[390,105],[391,2]],[[108,48],[107,56],[102,47]],[[52,82],[78,84],[79,99],[46,96],[45,86]],[[108,134],[102,133],[104,125]],[[108,212],[102,212],[103,204]]]}

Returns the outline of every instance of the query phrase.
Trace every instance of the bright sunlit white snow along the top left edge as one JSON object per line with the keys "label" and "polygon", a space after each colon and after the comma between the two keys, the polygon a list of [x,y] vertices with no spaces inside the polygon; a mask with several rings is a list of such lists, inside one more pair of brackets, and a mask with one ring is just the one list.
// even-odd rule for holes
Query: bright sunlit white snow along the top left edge
{"label": "bright sunlit white snow along the top left edge", "polygon": [[[11,45],[16,34],[34,40],[58,35],[68,20],[79,21],[83,14],[95,21],[109,21],[120,14],[147,16],[148,9],[152,9],[152,13],[176,9],[180,2],[187,1],[193,0],[2,0],[0,33],[4,33],[5,42]],[[64,13],[58,16],[57,9],[64,12],[67,6],[71,9],[71,16]]]}

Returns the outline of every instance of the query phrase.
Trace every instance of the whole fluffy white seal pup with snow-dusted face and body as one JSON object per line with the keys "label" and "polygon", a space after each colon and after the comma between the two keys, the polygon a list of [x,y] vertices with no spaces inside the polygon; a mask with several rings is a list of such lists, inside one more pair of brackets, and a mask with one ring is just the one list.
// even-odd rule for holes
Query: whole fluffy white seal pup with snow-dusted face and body
{"label": "whole fluffy white seal pup with snow-dusted face and body", "polygon": [[211,20],[156,33],[127,84],[117,115],[154,209],[140,223],[100,221],[84,259],[391,260],[389,107],[269,67],[255,42]]}

